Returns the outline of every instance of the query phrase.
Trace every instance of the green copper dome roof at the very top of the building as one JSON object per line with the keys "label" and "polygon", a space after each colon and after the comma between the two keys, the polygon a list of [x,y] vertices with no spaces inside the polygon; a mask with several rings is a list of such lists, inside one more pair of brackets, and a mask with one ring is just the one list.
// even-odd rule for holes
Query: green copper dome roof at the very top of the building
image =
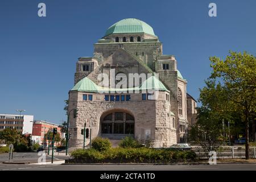
{"label": "green copper dome roof at the very top of the building", "polygon": [[125,33],[146,33],[154,35],[154,30],[147,23],[135,18],[122,19],[108,28],[105,36],[110,34],[125,34]]}

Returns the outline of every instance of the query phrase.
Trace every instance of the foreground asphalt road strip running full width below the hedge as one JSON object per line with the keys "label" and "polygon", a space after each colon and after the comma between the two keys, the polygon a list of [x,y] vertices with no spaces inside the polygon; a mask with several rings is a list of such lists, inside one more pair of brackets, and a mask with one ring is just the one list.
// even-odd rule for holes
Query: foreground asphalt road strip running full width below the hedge
{"label": "foreground asphalt road strip running full width below the hedge", "polygon": [[256,171],[256,164],[196,165],[61,165],[0,164],[0,171]]}

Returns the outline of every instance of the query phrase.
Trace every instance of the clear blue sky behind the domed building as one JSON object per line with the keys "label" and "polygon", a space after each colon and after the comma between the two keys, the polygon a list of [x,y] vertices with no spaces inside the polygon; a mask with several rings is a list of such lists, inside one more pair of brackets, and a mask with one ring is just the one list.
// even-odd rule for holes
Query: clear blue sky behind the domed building
{"label": "clear blue sky behind the domed building", "polygon": [[[46,3],[47,17],[38,17]],[[217,17],[208,16],[210,2]],[[77,57],[92,56],[93,44],[123,18],[150,24],[175,55],[196,99],[210,75],[209,56],[256,53],[256,1],[64,1],[1,0],[0,113],[26,109],[35,119],[60,123],[73,86]]]}

